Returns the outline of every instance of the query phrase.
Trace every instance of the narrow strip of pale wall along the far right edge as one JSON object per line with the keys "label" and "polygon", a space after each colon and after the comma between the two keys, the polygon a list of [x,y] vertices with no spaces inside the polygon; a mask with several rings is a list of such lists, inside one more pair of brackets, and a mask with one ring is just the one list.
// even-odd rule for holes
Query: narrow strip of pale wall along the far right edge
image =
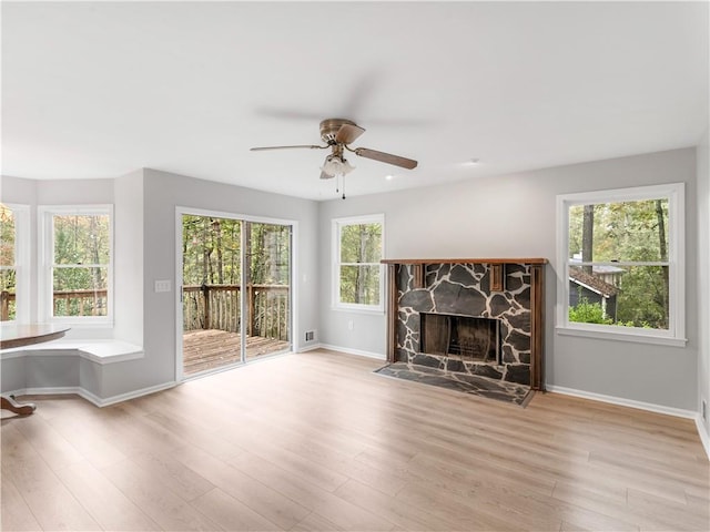
{"label": "narrow strip of pale wall along the far right edge", "polygon": [[[698,411],[701,401],[710,400],[710,130],[698,145]],[[710,405],[708,406],[710,409]],[[710,410],[700,420],[704,430],[706,450],[710,456]]]}

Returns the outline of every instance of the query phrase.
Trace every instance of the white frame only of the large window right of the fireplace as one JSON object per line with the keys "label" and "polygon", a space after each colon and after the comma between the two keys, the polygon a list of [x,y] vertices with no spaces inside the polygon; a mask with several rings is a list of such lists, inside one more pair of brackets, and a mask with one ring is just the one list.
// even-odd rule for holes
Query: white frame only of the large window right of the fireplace
{"label": "white frame only of the large window right of the fireplace", "polygon": [[[668,329],[645,329],[569,320],[569,207],[645,200],[668,200]],[[557,324],[560,335],[682,347],[686,345],[686,213],[684,184],[617,188],[557,196]],[[604,264],[604,263],[601,263]],[[623,266],[626,263],[609,263]],[[638,264],[638,263],[636,263]]]}

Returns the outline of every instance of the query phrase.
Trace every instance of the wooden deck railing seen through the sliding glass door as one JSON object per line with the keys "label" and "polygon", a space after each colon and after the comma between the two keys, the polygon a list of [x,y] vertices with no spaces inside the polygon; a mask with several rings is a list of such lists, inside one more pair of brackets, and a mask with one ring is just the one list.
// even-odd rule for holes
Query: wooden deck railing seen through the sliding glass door
{"label": "wooden deck railing seen through the sliding glass door", "polygon": [[[288,339],[290,287],[247,285],[248,336]],[[183,286],[183,330],[220,329],[239,332],[242,287],[240,285]]]}

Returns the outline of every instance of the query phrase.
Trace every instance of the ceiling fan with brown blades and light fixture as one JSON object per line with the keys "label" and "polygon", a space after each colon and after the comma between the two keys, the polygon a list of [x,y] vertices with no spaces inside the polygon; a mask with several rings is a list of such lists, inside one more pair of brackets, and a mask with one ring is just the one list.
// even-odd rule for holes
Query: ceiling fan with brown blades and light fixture
{"label": "ceiling fan with brown blades and light fixture", "polygon": [[295,146],[263,146],[252,147],[252,152],[261,152],[265,150],[291,150],[291,149],[311,149],[327,150],[331,153],[325,157],[325,162],[321,167],[321,178],[329,180],[332,177],[344,176],[355,170],[345,158],[345,151],[365,158],[372,158],[382,163],[393,164],[407,170],[416,168],[417,162],[412,158],[400,157],[390,153],[378,152],[368,147],[351,147],[349,144],[355,142],[365,133],[365,130],[355,122],[346,119],[326,119],[321,122],[321,140],[325,142],[325,146],[317,144],[301,144]]}

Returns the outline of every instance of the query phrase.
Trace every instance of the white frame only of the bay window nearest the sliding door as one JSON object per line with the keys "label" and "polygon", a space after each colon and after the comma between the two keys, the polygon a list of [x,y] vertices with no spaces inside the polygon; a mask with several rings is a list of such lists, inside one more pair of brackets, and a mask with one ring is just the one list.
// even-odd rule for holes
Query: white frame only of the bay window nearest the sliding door
{"label": "white frame only of the bay window nearest the sliding door", "polygon": [[[67,215],[108,215],[109,216],[109,265],[106,284],[106,315],[105,316],[54,316],[52,268],[54,262],[54,224],[53,217]],[[80,327],[112,326],[113,325],[113,205],[42,205],[38,207],[39,218],[39,315],[45,323],[59,323]]]}

